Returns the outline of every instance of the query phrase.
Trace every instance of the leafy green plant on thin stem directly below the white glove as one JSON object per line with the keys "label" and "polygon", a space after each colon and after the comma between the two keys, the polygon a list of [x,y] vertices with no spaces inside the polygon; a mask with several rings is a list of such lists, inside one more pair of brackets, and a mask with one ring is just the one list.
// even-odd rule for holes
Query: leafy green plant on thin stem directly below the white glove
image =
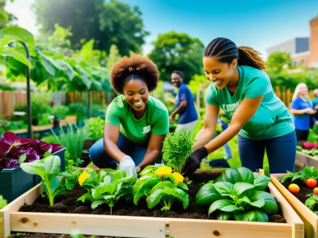
{"label": "leafy green plant on thin stem directly below the white glove", "polygon": [[97,208],[99,205],[106,203],[110,207],[110,214],[113,214],[112,208],[121,197],[126,200],[132,198],[133,185],[136,182],[134,176],[127,176],[124,171],[107,171],[105,176],[98,177],[98,181],[104,178],[103,182],[96,179],[86,180],[83,186],[93,187],[90,191],[78,198],[78,201],[84,202],[86,199],[91,200],[91,207]]}

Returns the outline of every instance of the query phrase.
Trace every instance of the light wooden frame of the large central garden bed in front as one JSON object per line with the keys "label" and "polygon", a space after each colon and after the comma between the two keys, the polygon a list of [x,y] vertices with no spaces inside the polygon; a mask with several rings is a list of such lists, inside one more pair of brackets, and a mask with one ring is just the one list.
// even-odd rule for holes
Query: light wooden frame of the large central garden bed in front
{"label": "light wooden frame of the large central garden bed in front", "polygon": [[[222,169],[198,170],[197,174],[200,175],[196,175],[196,177],[211,176],[202,174],[204,172],[219,174]],[[166,238],[169,236],[173,238],[303,238],[304,223],[300,217],[272,183],[269,183],[268,188],[278,202],[286,223],[170,218],[163,217],[164,212],[160,209],[156,212],[161,217],[142,216],[142,214],[134,216],[137,211],[131,214],[128,207],[125,208],[127,209],[126,215],[119,215],[119,213],[117,213],[118,215],[52,213],[52,211],[47,213],[19,212],[22,206],[27,206],[25,203],[32,204],[36,199],[41,200],[39,196],[43,193],[43,187],[38,184],[0,210],[0,238],[7,237],[11,231],[70,234],[73,230],[77,230],[83,235],[140,238]],[[68,206],[68,209],[71,209],[71,204]],[[196,207],[192,208],[197,211]],[[147,211],[140,210],[140,212]],[[170,212],[170,215],[173,214],[173,211],[167,212]],[[200,215],[198,212],[197,216]],[[208,211],[206,211],[206,215],[201,216],[207,217],[207,213]],[[194,217],[192,213],[183,213],[182,216]]]}

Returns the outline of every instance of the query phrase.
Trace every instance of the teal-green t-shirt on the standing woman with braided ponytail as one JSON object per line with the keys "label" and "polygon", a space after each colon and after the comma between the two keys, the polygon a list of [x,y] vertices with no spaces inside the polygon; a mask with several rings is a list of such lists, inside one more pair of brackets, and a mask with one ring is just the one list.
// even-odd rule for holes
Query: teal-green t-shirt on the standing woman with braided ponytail
{"label": "teal-green t-shirt on the standing woman with braided ponytail", "polygon": [[274,94],[268,75],[250,66],[238,66],[239,85],[230,94],[227,87],[222,90],[211,83],[205,94],[205,102],[220,105],[232,118],[234,111],[244,98],[264,98],[252,118],[243,126],[239,135],[250,140],[265,140],[286,135],[295,129],[292,116],[285,104]]}

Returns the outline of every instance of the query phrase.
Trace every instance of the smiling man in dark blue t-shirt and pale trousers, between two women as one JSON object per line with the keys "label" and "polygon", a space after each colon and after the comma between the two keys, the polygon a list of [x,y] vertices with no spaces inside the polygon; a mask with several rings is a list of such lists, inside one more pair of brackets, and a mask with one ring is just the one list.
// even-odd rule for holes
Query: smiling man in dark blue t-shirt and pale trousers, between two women
{"label": "smiling man in dark blue t-shirt and pale trousers, between two women", "polygon": [[175,117],[179,114],[176,131],[180,129],[193,130],[198,121],[197,110],[194,106],[194,99],[188,86],[183,83],[182,71],[175,70],[171,74],[171,83],[178,88],[176,96],[176,110],[170,116],[170,123],[174,122]]}

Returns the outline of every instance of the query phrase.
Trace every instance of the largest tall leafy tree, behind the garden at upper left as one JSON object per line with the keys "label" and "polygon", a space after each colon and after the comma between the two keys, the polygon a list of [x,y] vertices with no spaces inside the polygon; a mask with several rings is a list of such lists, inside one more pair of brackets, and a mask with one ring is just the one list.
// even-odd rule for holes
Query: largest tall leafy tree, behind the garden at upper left
{"label": "largest tall leafy tree, behind the garden at upper left", "polygon": [[148,35],[138,8],[117,0],[35,0],[33,8],[41,33],[52,34],[56,23],[70,29],[73,49],[94,39],[95,49],[109,53],[116,44],[121,55],[128,55],[130,50],[139,52]]}

